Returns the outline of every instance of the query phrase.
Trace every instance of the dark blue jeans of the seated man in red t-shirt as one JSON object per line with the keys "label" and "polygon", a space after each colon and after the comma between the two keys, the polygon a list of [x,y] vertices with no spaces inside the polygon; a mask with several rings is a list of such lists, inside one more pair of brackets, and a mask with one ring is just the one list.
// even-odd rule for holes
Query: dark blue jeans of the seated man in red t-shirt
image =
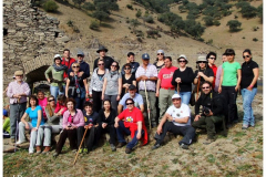
{"label": "dark blue jeans of the seated man in red t-shirt", "polygon": [[[119,127],[116,128],[119,143],[125,143],[123,133],[125,135],[131,135],[131,131],[124,126],[124,122],[120,121],[119,122]],[[133,139],[126,145],[127,148],[132,149],[137,144],[136,134],[137,134],[137,131],[135,132],[135,135],[134,135]],[[142,136],[143,135],[144,135],[144,131],[142,129]]]}

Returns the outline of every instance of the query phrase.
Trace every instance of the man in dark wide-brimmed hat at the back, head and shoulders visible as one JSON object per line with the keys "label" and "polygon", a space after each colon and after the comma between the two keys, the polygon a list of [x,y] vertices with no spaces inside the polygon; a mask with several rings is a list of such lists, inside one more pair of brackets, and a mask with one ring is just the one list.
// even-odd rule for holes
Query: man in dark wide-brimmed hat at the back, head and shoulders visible
{"label": "man in dark wide-brimmed hat at the back, head and shoulders visible", "polygon": [[104,62],[104,67],[108,70],[111,70],[111,64],[114,62],[114,60],[110,56],[106,56],[108,49],[103,45],[99,46],[99,50],[96,51],[99,53],[99,58],[94,61],[93,71],[98,67],[98,61],[100,59]]}

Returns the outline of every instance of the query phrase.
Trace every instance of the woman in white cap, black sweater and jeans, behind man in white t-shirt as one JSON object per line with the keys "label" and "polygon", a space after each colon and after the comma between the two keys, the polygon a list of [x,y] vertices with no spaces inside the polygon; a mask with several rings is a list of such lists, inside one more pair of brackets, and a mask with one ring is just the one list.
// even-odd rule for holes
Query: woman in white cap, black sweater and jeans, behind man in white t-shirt
{"label": "woman in white cap, black sweater and jeans, behind man in white t-shirt", "polygon": [[176,88],[176,93],[181,95],[182,103],[188,105],[192,93],[192,82],[194,73],[192,67],[187,67],[188,63],[184,54],[177,59],[180,67],[175,70],[172,79],[172,85]]}

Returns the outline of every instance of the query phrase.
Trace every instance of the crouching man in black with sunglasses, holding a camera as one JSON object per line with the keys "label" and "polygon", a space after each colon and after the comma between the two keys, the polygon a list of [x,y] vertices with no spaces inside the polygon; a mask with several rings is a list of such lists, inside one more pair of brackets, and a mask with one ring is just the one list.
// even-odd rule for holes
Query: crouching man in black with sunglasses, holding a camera
{"label": "crouching man in black with sunglasses, holding a camera", "polygon": [[[202,106],[202,113],[200,113]],[[215,140],[215,124],[223,123],[223,100],[218,93],[212,92],[212,84],[203,82],[202,95],[195,104],[195,119],[192,124],[195,128],[206,128],[207,139],[203,144],[211,144]],[[224,123],[223,123],[224,125]]]}

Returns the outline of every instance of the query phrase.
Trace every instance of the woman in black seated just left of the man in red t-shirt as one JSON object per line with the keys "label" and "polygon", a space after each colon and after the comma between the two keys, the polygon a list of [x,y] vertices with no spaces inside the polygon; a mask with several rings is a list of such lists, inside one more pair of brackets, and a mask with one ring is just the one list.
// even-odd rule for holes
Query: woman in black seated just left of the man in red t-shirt
{"label": "woman in black seated just left of the man in red t-shirt", "polygon": [[99,127],[98,127],[98,138],[100,139],[101,135],[103,133],[109,133],[110,135],[110,146],[112,152],[116,150],[115,147],[115,127],[114,127],[114,118],[116,117],[116,112],[114,108],[111,106],[111,101],[110,100],[104,100],[103,102],[103,110],[100,111],[99,113]]}

